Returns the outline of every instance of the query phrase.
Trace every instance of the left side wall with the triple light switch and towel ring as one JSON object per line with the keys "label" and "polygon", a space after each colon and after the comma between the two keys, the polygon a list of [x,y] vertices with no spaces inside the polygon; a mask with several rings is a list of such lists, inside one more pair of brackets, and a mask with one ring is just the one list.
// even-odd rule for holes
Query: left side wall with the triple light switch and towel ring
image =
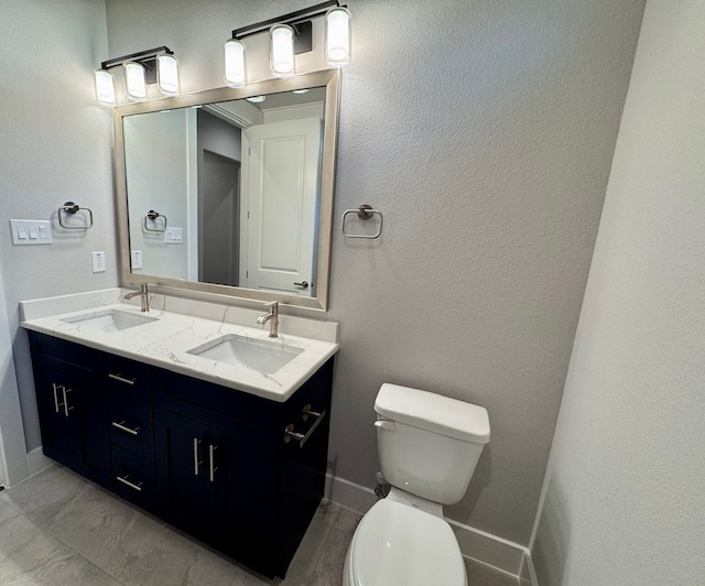
{"label": "left side wall with the triple light switch and towel ring", "polygon": [[[118,284],[111,112],[96,105],[91,72],[108,58],[102,0],[2,0],[0,19],[0,261],[14,338],[24,432],[41,444],[18,302]],[[56,228],[74,200],[94,211],[88,231]],[[13,247],[10,218],[51,219],[52,246]],[[107,272],[91,273],[105,250]]]}

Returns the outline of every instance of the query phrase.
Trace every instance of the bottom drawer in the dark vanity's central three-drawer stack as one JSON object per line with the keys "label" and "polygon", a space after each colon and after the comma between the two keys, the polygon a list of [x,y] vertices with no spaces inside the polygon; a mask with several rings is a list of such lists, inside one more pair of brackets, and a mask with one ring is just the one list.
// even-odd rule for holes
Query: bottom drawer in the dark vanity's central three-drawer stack
{"label": "bottom drawer in the dark vanity's central three-drawer stack", "polygon": [[154,464],[113,446],[112,489],[123,499],[154,512],[156,510]]}

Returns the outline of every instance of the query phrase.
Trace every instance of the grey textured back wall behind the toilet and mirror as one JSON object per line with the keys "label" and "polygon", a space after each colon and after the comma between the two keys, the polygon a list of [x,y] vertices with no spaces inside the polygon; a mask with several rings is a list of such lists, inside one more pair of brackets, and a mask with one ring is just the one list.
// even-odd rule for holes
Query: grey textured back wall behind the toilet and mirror
{"label": "grey textured back wall behind the toilet and mirror", "polygon": [[[231,29],[310,4],[108,0],[110,53],[166,44],[185,91],[223,85]],[[167,7],[167,10],[165,10]],[[329,316],[341,324],[330,468],[372,486],[384,381],[489,410],[449,514],[527,543],[643,0],[349,2]],[[267,76],[267,35],[248,41]],[[321,48],[318,44],[318,50]],[[321,67],[319,52],[300,70]],[[344,209],[384,214],[375,241]]]}

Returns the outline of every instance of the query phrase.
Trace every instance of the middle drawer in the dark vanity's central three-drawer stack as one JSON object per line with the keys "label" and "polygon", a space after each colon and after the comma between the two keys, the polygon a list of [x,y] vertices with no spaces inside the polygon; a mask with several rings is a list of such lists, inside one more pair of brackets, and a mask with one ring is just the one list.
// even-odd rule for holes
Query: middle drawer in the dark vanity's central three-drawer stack
{"label": "middle drawer in the dark vanity's central three-drawer stack", "polygon": [[152,406],[133,401],[122,389],[108,389],[110,443],[147,459],[154,459]]}

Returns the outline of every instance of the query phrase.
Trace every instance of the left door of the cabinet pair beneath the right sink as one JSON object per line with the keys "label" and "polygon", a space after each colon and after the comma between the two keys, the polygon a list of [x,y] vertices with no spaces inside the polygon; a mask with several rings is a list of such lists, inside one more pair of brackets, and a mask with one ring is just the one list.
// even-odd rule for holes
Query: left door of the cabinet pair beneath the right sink
{"label": "left door of the cabinet pair beneath the right sink", "polygon": [[160,514],[197,535],[210,525],[207,431],[205,425],[187,417],[154,410]]}

